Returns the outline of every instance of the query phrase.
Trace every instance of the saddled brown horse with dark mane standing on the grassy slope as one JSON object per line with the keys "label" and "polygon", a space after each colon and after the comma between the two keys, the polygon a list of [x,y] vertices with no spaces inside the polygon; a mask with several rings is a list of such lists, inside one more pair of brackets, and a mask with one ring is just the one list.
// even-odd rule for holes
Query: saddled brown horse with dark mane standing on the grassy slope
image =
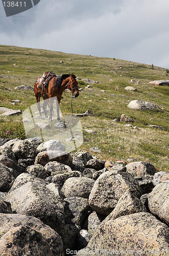
{"label": "saddled brown horse with dark mane standing on the grassy slope", "polygon": [[[50,114],[49,114],[49,121],[52,121],[52,111],[53,111],[53,97],[57,97],[58,104],[60,104],[61,97],[63,92],[66,89],[69,89],[72,92],[73,97],[78,97],[78,82],[76,80],[76,76],[73,74],[66,74],[57,76],[53,72],[44,72],[42,77],[39,77],[35,81],[34,92],[36,101],[38,104],[38,111],[40,116],[41,115],[41,108],[40,108],[40,98],[43,97],[43,111],[45,117],[47,118],[46,112],[46,105],[49,102]],[[47,100],[48,99],[48,100]],[[61,122],[60,115],[59,115],[59,107],[57,108],[57,119]]]}

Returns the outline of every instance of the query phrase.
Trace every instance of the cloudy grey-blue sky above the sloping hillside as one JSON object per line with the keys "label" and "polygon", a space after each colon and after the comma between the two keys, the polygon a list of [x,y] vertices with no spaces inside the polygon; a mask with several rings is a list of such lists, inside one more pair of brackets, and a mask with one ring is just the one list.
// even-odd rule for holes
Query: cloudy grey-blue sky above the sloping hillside
{"label": "cloudy grey-blue sky above the sloping hillside", "polygon": [[1,1],[0,44],[169,69],[168,11],[168,0],[41,0],[6,17]]}

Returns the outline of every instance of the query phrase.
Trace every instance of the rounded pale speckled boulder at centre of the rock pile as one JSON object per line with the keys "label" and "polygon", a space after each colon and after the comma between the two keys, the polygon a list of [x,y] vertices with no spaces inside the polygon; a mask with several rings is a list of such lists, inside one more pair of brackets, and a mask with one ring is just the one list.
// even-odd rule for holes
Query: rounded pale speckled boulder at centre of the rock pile
{"label": "rounded pale speckled boulder at centre of the rock pile", "polygon": [[89,198],[95,181],[87,177],[73,177],[65,181],[62,193],[65,197]]}

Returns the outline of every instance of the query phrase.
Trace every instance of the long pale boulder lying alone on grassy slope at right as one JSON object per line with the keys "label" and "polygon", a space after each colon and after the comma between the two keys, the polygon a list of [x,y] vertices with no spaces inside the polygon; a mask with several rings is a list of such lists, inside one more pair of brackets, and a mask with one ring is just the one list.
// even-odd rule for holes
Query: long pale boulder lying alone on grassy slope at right
{"label": "long pale boulder lying alone on grassy slope at right", "polygon": [[156,106],[154,103],[147,102],[144,100],[132,100],[127,105],[129,109],[135,109],[135,110],[156,110],[156,111],[162,111],[158,106]]}

